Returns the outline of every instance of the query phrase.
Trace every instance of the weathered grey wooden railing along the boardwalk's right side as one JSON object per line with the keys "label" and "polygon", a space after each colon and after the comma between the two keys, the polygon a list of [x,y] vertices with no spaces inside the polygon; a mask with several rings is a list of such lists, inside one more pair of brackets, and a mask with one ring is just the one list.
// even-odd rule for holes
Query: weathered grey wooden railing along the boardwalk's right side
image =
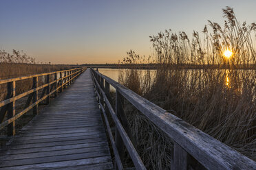
{"label": "weathered grey wooden railing along the boardwalk's right side", "polygon": [[[91,69],[91,73],[114,151],[116,169],[123,169],[124,147],[126,147],[136,169],[146,169],[136,151],[134,138],[131,130],[129,130],[129,123],[127,123],[123,108],[124,99],[171,138],[173,141],[172,169],[188,169],[189,163],[191,163],[189,158],[199,162],[200,169],[256,169],[256,163],[253,160],[239,154],[231,147],[217,141],[98,71]],[[116,89],[115,110],[110,102],[109,84]],[[111,132],[108,117],[111,117],[116,125],[115,138]]]}

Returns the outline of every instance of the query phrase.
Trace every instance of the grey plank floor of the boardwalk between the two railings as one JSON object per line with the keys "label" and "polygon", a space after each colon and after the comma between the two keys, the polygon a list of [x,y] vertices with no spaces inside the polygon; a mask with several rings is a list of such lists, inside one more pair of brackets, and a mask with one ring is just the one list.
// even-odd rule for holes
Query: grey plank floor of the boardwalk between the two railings
{"label": "grey plank floor of the boardwalk between the two railings", "polygon": [[113,169],[89,69],[1,150],[0,169]]}

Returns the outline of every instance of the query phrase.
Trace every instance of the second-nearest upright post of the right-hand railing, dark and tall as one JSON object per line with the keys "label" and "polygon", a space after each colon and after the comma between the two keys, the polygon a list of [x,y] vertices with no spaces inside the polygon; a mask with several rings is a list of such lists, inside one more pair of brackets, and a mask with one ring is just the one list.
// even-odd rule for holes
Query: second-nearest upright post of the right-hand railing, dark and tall
{"label": "second-nearest upright post of the right-hand railing, dark and tall", "polygon": [[[118,117],[118,119],[120,119],[120,110],[123,109],[121,107],[122,102],[123,102],[123,97],[122,95],[120,95],[120,93],[118,92],[118,89],[116,88],[116,116]],[[116,148],[118,149],[118,154],[120,156],[120,160],[122,161],[125,154],[125,151],[124,151],[125,145],[122,142],[122,138],[119,134],[117,126],[116,126],[116,132],[115,132],[115,141],[116,141]],[[115,163],[115,169],[118,169],[116,163]]]}

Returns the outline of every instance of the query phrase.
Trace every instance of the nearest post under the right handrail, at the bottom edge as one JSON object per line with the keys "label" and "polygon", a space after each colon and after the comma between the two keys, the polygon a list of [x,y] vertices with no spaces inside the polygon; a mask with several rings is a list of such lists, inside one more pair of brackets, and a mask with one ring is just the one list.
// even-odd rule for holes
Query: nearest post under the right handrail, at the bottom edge
{"label": "nearest post under the right handrail, at the bottom edge", "polygon": [[173,169],[186,170],[188,167],[188,153],[177,143],[173,145]]}

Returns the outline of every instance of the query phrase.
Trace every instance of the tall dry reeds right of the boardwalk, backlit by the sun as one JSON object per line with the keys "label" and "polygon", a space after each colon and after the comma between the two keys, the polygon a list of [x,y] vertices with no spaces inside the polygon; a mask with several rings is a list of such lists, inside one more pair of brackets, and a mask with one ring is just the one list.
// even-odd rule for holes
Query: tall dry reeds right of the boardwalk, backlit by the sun
{"label": "tall dry reeds right of the boardwalk, backlit by the sun", "polygon": [[[151,36],[153,56],[129,51],[122,64],[154,63],[156,71],[125,69],[118,81],[154,104],[198,127],[240,153],[256,160],[256,71],[237,69],[255,64],[255,23],[235,18],[232,8],[224,12],[224,29],[209,21],[203,38],[194,32],[169,31]],[[233,56],[223,56],[224,49]],[[179,64],[217,64],[219,69],[180,69]],[[229,69],[222,69],[228,65]],[[148,169],[171,169],[172,142],[138,110],[125,104],[138,143],[138,153]]]}

